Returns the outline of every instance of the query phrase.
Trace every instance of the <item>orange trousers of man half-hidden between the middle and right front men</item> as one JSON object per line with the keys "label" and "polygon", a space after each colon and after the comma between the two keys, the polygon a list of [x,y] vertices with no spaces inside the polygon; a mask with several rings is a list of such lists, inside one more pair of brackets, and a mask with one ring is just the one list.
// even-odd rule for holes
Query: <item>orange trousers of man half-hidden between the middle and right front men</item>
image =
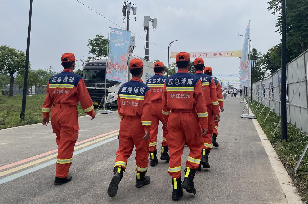
{"label": "orange trousers of man half-hidden between the middle and right front men", "polygon": [[162,103],[158,101],[152,101],[152,125],[151,125],[151,130],[150,130],[150,144],[149,144],[149,149],[150,151],[155,151],[156,150],[156,145],[157,145],[157,134],[158,134],[158,125],[159,121],[162,122],[163,124],[163,146],[168,146],[166,142],[166,135],[167,135],[167,128],[165,126],[164,120],[163,120],[163,113],[162,113]]}

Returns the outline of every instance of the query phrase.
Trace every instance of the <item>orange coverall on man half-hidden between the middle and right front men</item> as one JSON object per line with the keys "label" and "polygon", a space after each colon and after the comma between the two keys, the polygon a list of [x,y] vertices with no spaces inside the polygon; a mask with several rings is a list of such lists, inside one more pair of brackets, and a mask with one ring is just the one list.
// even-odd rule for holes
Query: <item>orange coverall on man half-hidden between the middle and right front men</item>
{"label": "orange coverall on man half-hidden between the middle and right front men", "polygon": [[148,79],[146,85],[150,87],[152,96],[152,125],[150,131],[150,144],[149,149],[151,152],[156,150],[157,146],[157,134],[159,121],[163,123],[163,146],[168,146],[166,142],[167,127],[163,121],[162,113],[162,94],[163,87],[167,77],[163,76],[161,73],[156,73],[153,77]]}

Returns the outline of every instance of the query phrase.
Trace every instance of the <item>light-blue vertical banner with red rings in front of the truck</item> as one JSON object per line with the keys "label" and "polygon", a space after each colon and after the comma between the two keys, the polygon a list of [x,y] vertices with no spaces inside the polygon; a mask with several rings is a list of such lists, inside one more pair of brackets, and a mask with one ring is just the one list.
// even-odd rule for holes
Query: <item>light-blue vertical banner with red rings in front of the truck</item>
{"label": "light-blue vertical banner with red rings in front of the truck", "polygon": [[124,82],[128,79],[127,61],[131,32],[110,28],[106,79]]}

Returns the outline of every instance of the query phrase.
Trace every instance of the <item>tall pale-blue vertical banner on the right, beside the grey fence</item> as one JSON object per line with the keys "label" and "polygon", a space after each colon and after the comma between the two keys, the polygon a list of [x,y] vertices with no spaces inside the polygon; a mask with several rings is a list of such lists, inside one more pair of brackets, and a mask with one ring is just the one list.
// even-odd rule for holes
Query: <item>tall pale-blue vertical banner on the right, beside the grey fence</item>
{"label": "tall pale-blue vertical banner on the right, beside the grey fence", "polygon": [[239,67],[239,79],[243,82],[249,80],[249,33],[250,33],[250,21],[246,28],[244,45],[241,55],[240,67]]}

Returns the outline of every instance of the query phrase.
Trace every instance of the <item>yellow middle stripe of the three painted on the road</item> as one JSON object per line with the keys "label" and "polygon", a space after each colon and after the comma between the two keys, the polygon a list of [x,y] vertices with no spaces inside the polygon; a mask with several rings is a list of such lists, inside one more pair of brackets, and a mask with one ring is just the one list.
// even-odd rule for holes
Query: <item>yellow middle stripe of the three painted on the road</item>
{"label": "yellow middle stripe of the three painted on the road", "polygon": [[[91,142],[87,142],[87,143],[82,144],[82,145],[79,145],[79,146],[77,146],[77,147],[75,146],[74,150],[80,149],[80,148],[82,148],[82,147],[89,146],[90,144],[99,142],[99,141],[101,141],[101,140],[104,140],[104,139],[106,139],[106,138],[110,138],[110,137],[115,136],[115,135],[118,135],[118,134],[119,134],[119,132],[116,132],[116,133],[114,133],[114,134],[111,134],[111,135],[105,136],[105,137],[103,137],[103,138],[99,138],[99,139],[93,140],[93,141],[91,141]],[[47,160],[52,159],[52,158],[55,158],[55,157],[57,157],[57,155],[58,155],[58,153],[53,154],[53,155],[49,155],[49,156],[44,157],[44,158],[42,158],[42,159],[38,159],[38,160],[35,160],[35,161],[32,161],[32,162],[29,162],[29,163],[27,163],[27,164],[20,165],[20,166],[15,167],[15,168],[8,169],[8,170],[6,170],[6,171],[0,172],[0,176],[5,176],[5,175],[7,175],[7,174],[10,174],[10,173],[19,171],[19,170],[21,170],[21,169],[28,168],[28,167],[33,166],[33,165],[35,165],[35,164],[38,164],[38,163],[47,161]]]}

